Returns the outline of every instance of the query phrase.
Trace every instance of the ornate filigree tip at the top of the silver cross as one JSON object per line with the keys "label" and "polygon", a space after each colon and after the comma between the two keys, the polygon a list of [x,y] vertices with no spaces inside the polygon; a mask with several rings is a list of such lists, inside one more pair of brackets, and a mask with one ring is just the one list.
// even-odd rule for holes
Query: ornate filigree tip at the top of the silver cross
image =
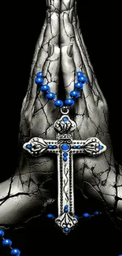
{"label": "ornate filigree tip at the top of the silver cross", "polygon": [[72,121],[67,115],[63,115],[55,121],[54,129],[56,132],[65,135],[76,130],[76,122]]}

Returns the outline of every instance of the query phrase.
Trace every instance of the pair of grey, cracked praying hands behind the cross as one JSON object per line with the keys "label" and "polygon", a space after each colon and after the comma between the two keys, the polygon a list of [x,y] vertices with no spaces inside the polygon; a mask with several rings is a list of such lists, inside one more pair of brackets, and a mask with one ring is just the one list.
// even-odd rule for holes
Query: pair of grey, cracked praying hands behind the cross
{"label": "pair of grey, cracked praying hands behind the cross", "polygon": [[[82,70],[88,82],[70,111],[70,117],[77,124],[74,139],[97,136],[107,150],[98,158],[74,156],[75,187],[85,199],[90,198],[98,207],[113,212],[113,220],[120,228],[122,169],[114,160],[108,129],[108,107],[83,43],[76,2],[46,2],[46,20],[35,47],[28,91],[21,109],[17,172],[0,184],[0,224],[6,226],[28,220],[33,210],[41,213],[57,199],[57,157],[43,155],[32,158],[22,150],[23,144],[34,136],[55,139],[53,124],[61,117],[59,109],[54,108],[53,103],[48,102],[39,91],[34,82],[35,74],[43,71],[44,83],[48,83],[51,91],[60,98],[61,70],[66,98],[76,83],[76,71]],[[82,200],[80,203],[82,205]]]}

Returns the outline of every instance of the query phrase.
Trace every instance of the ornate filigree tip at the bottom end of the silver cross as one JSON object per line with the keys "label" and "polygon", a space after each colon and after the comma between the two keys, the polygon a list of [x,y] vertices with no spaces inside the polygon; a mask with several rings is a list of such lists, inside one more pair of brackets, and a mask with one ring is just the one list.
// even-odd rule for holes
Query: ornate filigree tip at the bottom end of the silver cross
{"label": "ornate filigree tip at the bottom end of the silver cross", "polygon": [[71,216],[69,213],[63,213],[60,217],[55,219],[55,223],[62,228],[62,231],[68,233],[78,223],[76,217]]}

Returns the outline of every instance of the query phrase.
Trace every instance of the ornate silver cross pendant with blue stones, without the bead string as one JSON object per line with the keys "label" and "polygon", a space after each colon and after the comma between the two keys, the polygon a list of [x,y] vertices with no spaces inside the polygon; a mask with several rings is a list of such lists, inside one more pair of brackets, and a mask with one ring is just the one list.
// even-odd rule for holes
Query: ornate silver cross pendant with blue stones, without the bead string
{"label": "ornate silver cross pendant with blue stones, without the bead string", "polygon": [[62,117],[54,123],[57,133],[55,140],[35,137],[23,146],[33,157],[39,158],[47,152],[57,154],[58,217],[55,223],[65,234],[78,223],[74,207],[73,154],[97,157],[106,150],[106,146],[98,138],[73,139],[72,132],[76,130],[76,122],[70,119],[68,111],[62,108]]}

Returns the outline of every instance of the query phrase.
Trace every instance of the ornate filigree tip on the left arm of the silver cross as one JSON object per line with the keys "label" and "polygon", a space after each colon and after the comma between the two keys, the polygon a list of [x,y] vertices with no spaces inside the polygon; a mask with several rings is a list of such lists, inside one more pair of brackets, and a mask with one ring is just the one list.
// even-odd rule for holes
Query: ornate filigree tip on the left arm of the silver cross
{"label": "ornate filigree tip on the left arm of the silver cross", "polygon": [[43,154],[47,149],[48,145],[42,138],[32,138],[28,143],[24,143],[24,150],[28,150],[30,154],[37,157],[40,154]]}

